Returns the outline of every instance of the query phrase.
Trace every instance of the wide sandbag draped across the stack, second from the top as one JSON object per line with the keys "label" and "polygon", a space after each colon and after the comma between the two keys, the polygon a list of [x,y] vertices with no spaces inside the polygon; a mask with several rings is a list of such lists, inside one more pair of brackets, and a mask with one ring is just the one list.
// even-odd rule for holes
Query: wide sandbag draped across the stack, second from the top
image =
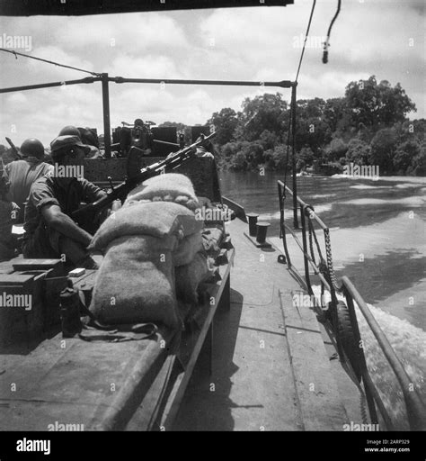
{"label": "wide sandbag draped across the stack, second from the top", "polygon": [[103,251],[111,241],[130,235],[147,235],[162,239],[176,235],[178,239],[199,232],[203,222],[185,206],[173,202],[135,203],[120,208],[102,222],[93,236],[89,250]]}

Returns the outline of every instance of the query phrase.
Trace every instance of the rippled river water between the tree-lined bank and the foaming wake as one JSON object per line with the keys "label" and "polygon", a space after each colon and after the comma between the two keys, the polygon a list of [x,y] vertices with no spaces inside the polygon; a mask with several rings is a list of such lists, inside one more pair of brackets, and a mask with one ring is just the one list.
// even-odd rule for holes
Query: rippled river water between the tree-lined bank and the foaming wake
{"label": "rippled river water between the tree-lined bank and the foaming wake", "polygon": [[[269,236],[280,234],[282,178],[271,172],[220,173],[222,194],[270,222]],[[426,330],[426,178],[303,176],[297,187],[331,230],[336,275],[349,276],[366,302]],[[290,195],[286,210],[291,224]],[[323,237],[320,230],[317,235]],[[300,250],[288,240],[303,274]]]}

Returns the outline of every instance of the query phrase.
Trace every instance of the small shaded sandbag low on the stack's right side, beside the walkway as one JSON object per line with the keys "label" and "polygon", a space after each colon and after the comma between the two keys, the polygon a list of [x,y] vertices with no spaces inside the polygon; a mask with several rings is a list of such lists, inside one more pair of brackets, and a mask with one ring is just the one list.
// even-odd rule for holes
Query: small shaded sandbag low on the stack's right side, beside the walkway
{"label": "small shaded sandbag low on the stack's right side, beside the walkway", "polygon": [[201,282],[214,274],[214,267],[204,252],[199,252],[190,264],[175,267],[176,296],[184,303],[198,303],[197,289]]}

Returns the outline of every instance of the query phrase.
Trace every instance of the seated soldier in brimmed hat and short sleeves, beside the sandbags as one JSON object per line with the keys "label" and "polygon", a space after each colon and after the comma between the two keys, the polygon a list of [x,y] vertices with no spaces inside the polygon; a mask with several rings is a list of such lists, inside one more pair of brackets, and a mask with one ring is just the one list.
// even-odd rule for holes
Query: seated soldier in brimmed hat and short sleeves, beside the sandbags
{"label": "seated soldier in brimmed hat and short sleeves, beside the sandbags", "polygon": [[86,250],[92,235],[71,219],[80,203],[106,193],[81,175],[89,147],[77,136],[58,136],[50,143],[54,171],[31,186],[25,207],[25,258],[62,258],[74,267],[97,268]]}

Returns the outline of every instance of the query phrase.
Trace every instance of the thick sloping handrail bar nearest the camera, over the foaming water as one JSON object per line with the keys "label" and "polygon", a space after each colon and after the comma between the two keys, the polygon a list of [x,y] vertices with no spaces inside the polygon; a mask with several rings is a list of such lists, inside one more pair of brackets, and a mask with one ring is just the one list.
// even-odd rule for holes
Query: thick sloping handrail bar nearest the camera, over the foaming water
{"label": "thick sloping handrail bar nearest the camera, over the foaming water", "polygon": [[383,353],[389,362],[389,365],[394,370],[396,379],[401,385],[401,389],[404,393],[405,405],[407,407],[407,416],[410,420],[411,429],[426,430],[426,406],[415,391],[410,391],[410,388],[413,385],[410,376],[407,375],[403,364],[396,356],[395,351],[386,338],[385,333],[380,328],[380,325],[377,323],[373,314],[368,309],[368,305],[362,299],[361,295],[358,293],[358,290],[354,285],[352,285],[351,280],[347,276],[342,276],[341,282],[342,286],[346,288],[348,293],[351,294],[352,298],[358,304],[360,312],[362,312],[362,315],[365,317],[368,326],[376,337],[380,348],[383,350]]}

